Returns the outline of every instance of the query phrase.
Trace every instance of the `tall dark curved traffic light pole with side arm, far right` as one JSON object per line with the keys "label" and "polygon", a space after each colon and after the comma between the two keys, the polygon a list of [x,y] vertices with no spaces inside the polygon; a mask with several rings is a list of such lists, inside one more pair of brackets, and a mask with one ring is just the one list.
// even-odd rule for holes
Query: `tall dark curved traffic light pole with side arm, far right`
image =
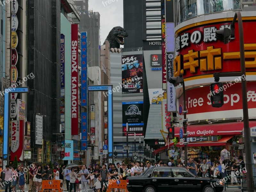
{"label": "tall dark curved traffic light pole with side arm, far right", "polygon": [[[238,19],[238,31],[239,31],[239,43],[240,43],[240,64],[241,73],[239,76],[244,76],[241,78],[242,84],[242,101],[243,101],[243,116],[244,116],[244,145],[245,145],[245,158],[246,158],[246,178],[247,178],[247,191],[252,192],[254,190],[254,181],[252,177],[252,154],[251,154],[251,135],[249,127],[249,115],[248,115],[248,103],[247,103],[247,87],[246,87],[246,70],[245,70],[245,56],[244,56],[244,29],[243,20],[241,13],[239,11],[235,12],[234,19],[231,23],[231,31],[235,29],[235,22]],[[232,75],[237,75],[238,73],[231,73]],[[229,76],[231,76],[231,74]],[[219,76],[224,76],[225,74],[218,74]],[[227,74],[226,74],[227,75]]]}

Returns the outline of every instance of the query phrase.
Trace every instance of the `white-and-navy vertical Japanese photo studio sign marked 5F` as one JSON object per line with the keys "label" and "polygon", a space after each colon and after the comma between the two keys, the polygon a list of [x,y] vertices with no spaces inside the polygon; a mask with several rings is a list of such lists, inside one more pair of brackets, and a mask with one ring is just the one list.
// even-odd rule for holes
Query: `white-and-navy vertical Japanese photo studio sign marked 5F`
{"label": "white-and-navy vertical Japanese photo studio sign marked 5F", "polygon": [[[167,57],[166,57],[167,79],[174,76],[173,62],[174,62],[174,53],[168,53]],[[167,110],[170,111],[170,112],[176,112],[175,87],[174,87],[173,84],[169,83],[169,81],[166,84],[167,84],[167,90],[166,90],[167,91]]]}

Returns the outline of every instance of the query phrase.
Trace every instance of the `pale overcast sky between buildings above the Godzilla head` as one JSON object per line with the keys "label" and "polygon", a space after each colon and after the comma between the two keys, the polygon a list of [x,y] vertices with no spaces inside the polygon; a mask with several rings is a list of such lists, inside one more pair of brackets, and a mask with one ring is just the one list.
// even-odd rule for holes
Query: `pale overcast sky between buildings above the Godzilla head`
{"label": "pale overcast sky between buildings above the Godzilla head", "polygon": [[123,0],[89,0],[89,10],[100,13],[101,45],[113,27],[123,27]]}

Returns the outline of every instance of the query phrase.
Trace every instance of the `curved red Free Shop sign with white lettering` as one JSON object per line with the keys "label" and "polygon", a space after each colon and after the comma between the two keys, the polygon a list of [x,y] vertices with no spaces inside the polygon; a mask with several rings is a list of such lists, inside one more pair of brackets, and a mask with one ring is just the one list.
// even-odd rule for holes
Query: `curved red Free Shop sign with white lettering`
{"label": "curved red Free Shop sign with white lettering", "polygon": [[[211,106],[211,93],[210,85],[205,87],[199,87],[186,91],[186,108],[188,110],[187,115],[214,112],[214,111],[227,111],[242,109],[242,91],[241,83],[228,83],[224,84],[224,105],[221,108],[214,108]],[[248,108],[256,108],[256,93],[255,82],[247,82],[247,102]],[[180,97],[179,103],[183,103],[183,97]],[[216,114],[217,115],[217,114]],[[225,115],[225,114],[224,114]],[[230,115],[230,114],[226,114]],[[235,114],[233,114],[233,117]],[[241,114],[242,115],[242,114]],[[250,116],[250,110],[249,110]],[[253,114],[251,114],[253,116]],[[209,116],[209,119],[217,118],[216,116]],[[223,118],[225,118],[223,116]],[[189,116],[188,116],[188,119]],[[191,119],[190,119],[191,121]]]}

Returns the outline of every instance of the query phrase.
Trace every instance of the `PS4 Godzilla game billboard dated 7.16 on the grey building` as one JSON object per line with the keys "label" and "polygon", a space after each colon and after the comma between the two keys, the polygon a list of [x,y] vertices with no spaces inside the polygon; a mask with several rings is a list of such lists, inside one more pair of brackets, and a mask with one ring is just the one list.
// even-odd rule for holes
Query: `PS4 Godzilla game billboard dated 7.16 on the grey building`
{"label": "PS4 Godzilla game billboard dated 7.16 on the grey building", "polygon": [[122,55],[122,93],[143,92],[143,55]]}

